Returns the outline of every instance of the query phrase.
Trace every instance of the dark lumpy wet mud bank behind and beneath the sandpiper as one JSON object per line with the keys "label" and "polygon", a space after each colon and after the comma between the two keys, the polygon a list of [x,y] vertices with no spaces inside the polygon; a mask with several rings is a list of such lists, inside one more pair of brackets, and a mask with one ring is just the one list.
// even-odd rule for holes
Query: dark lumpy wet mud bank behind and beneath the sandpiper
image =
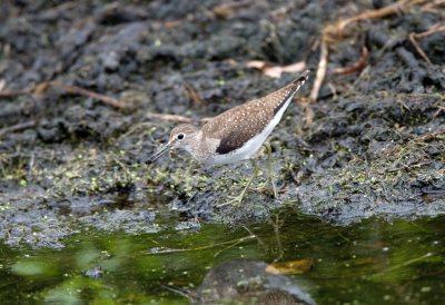
{"label": "dark lumpy wet mud bank behind and beneath the sandpiper", "polygon": [[[2,1],[0,237],[62,247],[61,238],[91,226],[157,232],[168,217],[178,218],[176,229],[197,228],[198,219],[239,225],[284,205],[338,224],[443,214],[445,32],[419,40],[426,62],[408,35],[442,19],[419,6],[356,23],[329,47],[319,100],[291,105],[270,138],[279,200],[250,193],[240,207],[216,208],[240,191],[247,163],[201,168],[179,151],[142,163],[176,124],[149,114],[199,124],[270,92],[295,75],[268,78],[247,61],[304,60],[315,70],[323,29],[390,3],[374,2]],[[332,72],[354,65],[363,46],[369,58],[362,71]]]}

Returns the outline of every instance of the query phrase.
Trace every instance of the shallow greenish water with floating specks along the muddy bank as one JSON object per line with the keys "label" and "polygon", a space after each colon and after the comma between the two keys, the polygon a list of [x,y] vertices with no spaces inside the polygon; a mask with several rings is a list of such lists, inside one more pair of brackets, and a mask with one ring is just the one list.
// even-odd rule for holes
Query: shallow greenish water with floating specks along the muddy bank
{"label": "shallow greenish water with floating specks along the muddy bank", "polygon": [[[65,249],[1,246],[0,299],[188,304],[212,266],[234,258],[310,262],[286,275],[318,304],[439,304],[445,299],[445,217],[367,219],[347,227],[283,210],[269,223],[128,235],[90,232]],[[100,267],[98,279],[85,275]],[[166,286],[170,287],[168,289]]]}

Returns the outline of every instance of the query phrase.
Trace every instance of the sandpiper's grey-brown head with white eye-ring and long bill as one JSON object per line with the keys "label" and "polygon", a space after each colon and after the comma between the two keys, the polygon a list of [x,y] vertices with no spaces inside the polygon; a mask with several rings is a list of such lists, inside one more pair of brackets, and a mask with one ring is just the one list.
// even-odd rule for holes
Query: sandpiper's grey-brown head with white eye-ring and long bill
{"label": "sandpiper's grey-brown head with white eye-ring and long bill", "polygon": [[147,164],[151,164],[174,148],[184,148],[190,150],[196,137],[198,136],[198,128],[190,124],[181,124],[171,129],[170,138],[167,144],[162,145],[155,154],[152,154]]}

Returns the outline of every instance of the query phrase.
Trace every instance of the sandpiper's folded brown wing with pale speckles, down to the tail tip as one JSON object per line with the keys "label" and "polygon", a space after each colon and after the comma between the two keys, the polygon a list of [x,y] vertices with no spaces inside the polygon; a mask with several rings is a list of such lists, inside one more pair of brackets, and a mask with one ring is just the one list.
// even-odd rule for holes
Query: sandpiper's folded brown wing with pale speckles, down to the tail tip
{"label": "sandpiper's folded brown wing with pale speckles, down to the tail tip", "polygon": [[216,152],[229,154],[261,132],[306,79],[307,73],[301,75],[291,83],[264,98],[254,99],[212,118],[202,127],[202,131],[209,138],[220,139]]}

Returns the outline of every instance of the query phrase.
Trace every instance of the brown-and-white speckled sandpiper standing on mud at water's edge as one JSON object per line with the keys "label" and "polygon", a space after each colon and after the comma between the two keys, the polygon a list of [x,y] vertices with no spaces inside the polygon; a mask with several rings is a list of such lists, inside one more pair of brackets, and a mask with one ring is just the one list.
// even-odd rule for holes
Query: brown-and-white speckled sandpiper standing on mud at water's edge
{"label": "brown-and-white speckled sandpiper standing on mud at water's edge", "polygon": [[[280,121],[283,114],[295,94],[307,80],[309,70],[306,70],[281,89],[220,114],[210,119],[201,129],[190,124],[175,127],[168,142],[151,155],[147,164],[154,163],[172,148],[184,148],[199,163],[209,165],[250,159]],[[270,174],[270,146],[268,147],[268,181],[273,185]],[[254,166],[254,175],[247,186],[230,203],[239,204],[243,200],[246,190],[258,174],[258,167],[255,164]]]}

